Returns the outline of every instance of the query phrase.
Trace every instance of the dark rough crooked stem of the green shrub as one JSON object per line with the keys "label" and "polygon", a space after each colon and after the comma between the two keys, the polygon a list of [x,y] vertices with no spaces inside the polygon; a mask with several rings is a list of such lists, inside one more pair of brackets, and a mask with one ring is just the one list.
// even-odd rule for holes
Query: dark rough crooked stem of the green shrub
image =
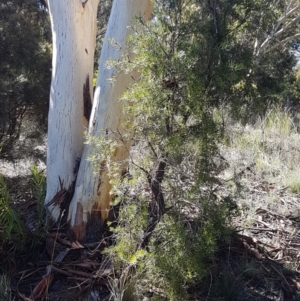
{"label": "dark rough crooked stem of the green shrub", "polygon": [[166,165],[165,161],[160,160],[155,177],[153,178],[150,174],[147,174],[148,183],[153,194],[153,201],[149,203],[149,223],[145,231],[145,237],[141,243],[142,249],[147,248],[156,225],[165,213],[165,199],[161,189],[161,183],[164,178]]}

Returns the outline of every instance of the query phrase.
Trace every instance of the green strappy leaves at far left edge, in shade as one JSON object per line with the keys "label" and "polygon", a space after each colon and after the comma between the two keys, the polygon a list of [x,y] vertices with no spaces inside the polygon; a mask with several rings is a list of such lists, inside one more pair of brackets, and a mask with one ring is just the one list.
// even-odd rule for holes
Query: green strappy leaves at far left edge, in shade
{"label": "green strappy leaves at far left edge, in shade", "polygon": [[13,247],[22,247],[24,229],[22,223],[12,209],[9,192],[3,176],[0,176],[0,247],[12,243]]}

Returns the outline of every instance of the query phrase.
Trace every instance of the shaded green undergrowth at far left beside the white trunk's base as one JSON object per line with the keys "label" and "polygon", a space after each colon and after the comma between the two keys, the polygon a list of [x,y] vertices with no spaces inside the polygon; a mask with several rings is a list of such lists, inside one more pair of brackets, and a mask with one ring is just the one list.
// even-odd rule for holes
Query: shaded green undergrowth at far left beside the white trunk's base
{"label": "shaded green undergrowth at far left beside the white trunk's base", "polygon": [[[9,300],[10,277],[18,262],[31,257],[39,243],[45,240],[45,182],[44,173],[33,165],[27,187],[32,191],[31,197],[11,200],[4,177],[0,176],[0,301]],[[26,201],[29,207],[23,207],[22,202]]]}

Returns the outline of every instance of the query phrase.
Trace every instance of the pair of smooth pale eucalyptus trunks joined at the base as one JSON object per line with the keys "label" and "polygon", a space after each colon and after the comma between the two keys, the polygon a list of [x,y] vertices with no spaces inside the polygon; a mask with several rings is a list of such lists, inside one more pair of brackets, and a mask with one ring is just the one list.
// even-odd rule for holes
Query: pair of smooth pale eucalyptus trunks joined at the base
{"label": "pair of smooth pale eucalyptus trunks joined at the base", "polygon": [[[53,69],[45,203],[54,220],[68,217],[74,239],[78,240],[97,239],[108,217],[111,200],[105,162],[99,162],[101,169],[95,173],[88,161],[93,150],[84,144],[84,132],[88,129],[89,135],[97,137],[113,131],[122,133],[119,98],[133,75],[118,74],[114,69],[107,69],[106,63],[108,59],[121,58],[133,18],[141,15],[148,19],[152,12],[150,0],[114,1],[92,102],[98,4],[99,0],[49,0]],[[108,39],[115,40],[119,47],[113,47]],[[114,84],[109,81],[112,77],[115,77]],[[128,141],[120,143],[114,161],[123,162],[127,158],[129,144]]]}

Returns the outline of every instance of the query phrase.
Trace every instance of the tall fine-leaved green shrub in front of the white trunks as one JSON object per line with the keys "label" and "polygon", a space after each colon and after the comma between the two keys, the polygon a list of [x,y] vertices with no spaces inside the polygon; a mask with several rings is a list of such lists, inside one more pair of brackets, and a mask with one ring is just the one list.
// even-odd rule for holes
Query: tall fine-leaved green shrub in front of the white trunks
{"label": "tall fine-leaved green shrub in front of the white trunks", "polygon": [[[128,116],[123,127],[133,133],[133,147],[128,174],[112,180],[120,209],[117,224],[111,224],[115,244],[107,252],[120,275],[134,266],[137,278],[144,279],[135,283],[138,299],[153,285],[163,289],[158,299],[186,300],[188,288],[207,274],[218,242],[230,232],[234,199],[218,191],[218,175],[227,166],[219,154],[226,139],[223,109],[231,119],[249,121],[264,115],[271,103],[282,103],[295,81],[295,59],[288,51],[254,49],[282,8],[270,10],[271,1],[254,0],[214,5],[155,1],[153,20],[137,18],[133,24],[123,59],[108,62],[134,82],[121,99]],[[111,43],[118,47],[118,41]],[[280,122],[284,136],[292,130],[287,115],[264,120],[266,129]],[[244,143],[259,152],[261,136],[252,138]],[[164,213],[153,230],[155,181]],[[151,239],[143,248],[147,235]],[[235,282],[226,287],[234,298]]]}

